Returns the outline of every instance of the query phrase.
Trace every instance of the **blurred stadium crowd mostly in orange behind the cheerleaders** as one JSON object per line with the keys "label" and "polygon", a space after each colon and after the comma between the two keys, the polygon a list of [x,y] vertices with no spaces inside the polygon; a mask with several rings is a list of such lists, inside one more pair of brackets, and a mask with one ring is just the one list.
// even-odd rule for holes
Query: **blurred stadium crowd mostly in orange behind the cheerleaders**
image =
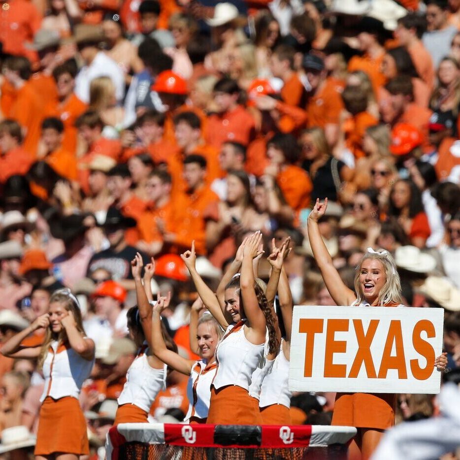
{"label": "blurred stadium crowd mostly in orange behind the cheerleaders", "polygon": [[[213,354],[197,328],[221,337],[241,320],[222,314],[240,268],[252,343],[268,327],[288,350],[290,330],[246,311],[244,251],[280,323],[286,304],[337,303],[321,239],[348,291],[367,248],[387,251],[395,303],[444,308],[443,380],[460,382],[460,1],[0,3],[0,345],[39,350],[64,328],[95,359],[74,394],[86,458],[103,458],[139,348],[160,379],[148,419],[202,418],[187,387]],[[76,326],[44,322],[66,296]],[[23,355],[0,356],[0,456],[8,430],[37,432],[52,387],[45,357]],[[328,425],[334,400],[295,393],[283,417]],[[439,410],[433,395],[395,402],[396,423]]]}

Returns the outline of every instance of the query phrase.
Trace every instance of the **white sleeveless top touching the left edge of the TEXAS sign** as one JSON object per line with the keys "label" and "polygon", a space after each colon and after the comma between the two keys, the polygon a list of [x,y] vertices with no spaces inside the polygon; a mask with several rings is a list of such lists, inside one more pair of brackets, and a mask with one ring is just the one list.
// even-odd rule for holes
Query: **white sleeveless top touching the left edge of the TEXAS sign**
{"label": "white sleeveless top touching the left edge of the TEXAS sign", "polygon": [[291,395],[289,391],[289,361],[284,356],[283,340],[281,341],[280,352],[276,356],[271,372],[266,374],[262,382],[259,407],[282,404],[291,407]]}

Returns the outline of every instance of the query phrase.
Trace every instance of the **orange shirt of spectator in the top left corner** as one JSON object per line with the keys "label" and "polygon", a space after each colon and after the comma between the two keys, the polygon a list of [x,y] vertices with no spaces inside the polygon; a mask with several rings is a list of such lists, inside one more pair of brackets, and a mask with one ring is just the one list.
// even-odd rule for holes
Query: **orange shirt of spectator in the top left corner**
{"label": "orange shirt of spectator in the top left corner", "polygon": [[3,53],[26,56],[31,61],[37,60],[34,51],[24,47],[33,41],[33,36],[40,29],[41,15],[32,1],[10,0],[1,10],[0,42]]}

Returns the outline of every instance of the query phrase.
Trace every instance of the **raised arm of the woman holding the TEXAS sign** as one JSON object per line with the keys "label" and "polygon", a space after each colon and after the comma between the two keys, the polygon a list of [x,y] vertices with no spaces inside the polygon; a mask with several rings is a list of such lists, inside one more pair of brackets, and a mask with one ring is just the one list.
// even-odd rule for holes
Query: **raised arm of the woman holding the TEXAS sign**
{"label": "raised arm of the woman holding the TEXAS sign", "polygon": [[319,199],[316,200],[313,210],[308,216],[308,238],[313,250],[313,256],[321,271],[330,296],[337,305],[351,305],[356,300],[356,295],[351,289],[347,288],[340,278],[318,227],[318,220],[324,216],[327,207],[328,198],[325,199],[324,203],[320,203]]}

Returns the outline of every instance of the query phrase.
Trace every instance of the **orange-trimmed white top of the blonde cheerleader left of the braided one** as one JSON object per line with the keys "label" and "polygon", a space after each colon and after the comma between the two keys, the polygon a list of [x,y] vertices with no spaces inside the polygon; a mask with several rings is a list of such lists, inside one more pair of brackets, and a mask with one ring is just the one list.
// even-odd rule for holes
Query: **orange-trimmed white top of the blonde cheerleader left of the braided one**
{"label": "orange-trimmed white top of the blonde cheerleader left of the braided one", "polygon": [[211,383],[216,375],[217,363],[213,362],[206,368],[205,361],[195,362],[190,373],[187,385],[189,410],[184,421],[189,422],[191,417],[205,419],[208,416],[209,400],[211,399]]}

